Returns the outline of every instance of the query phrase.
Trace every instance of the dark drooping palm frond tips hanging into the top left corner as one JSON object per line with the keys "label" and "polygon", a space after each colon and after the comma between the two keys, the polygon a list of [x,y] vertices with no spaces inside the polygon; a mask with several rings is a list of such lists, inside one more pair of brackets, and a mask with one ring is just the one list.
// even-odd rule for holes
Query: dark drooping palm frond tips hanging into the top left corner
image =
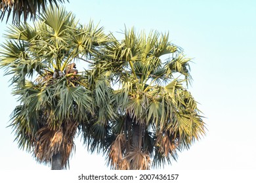
{"label": "dark drooping palm frond tips hanging into the top left corner", "polygon": [[13,23],[19,23],[22,16],[24,17],[24,21],[26,21],[29,16],[35,19],[37,12],[41,12],[41,10],[45,11],[48,3],[51,6],[57,6],[58,2],[64,3],[64,0],[3,0],[0,2],[0,19],[3,21],[3,18],[6,16],[8,21],[11,14]]}

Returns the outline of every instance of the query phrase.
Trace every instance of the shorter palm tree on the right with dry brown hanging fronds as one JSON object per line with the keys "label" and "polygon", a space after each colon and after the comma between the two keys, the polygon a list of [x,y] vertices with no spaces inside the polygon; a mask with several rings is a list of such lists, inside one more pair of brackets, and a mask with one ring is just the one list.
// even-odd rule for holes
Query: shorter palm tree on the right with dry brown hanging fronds
{"label": "shorter palm tree on the right with dry brown hanging fronds", "polygon": [[108,123],[108,165],[112,169],[150,169],[177,160],[205,133],[197,103],[188,92],[189,58],[168,34],[137,35],[107,44],[96,67],[113,80],[116,120]]}

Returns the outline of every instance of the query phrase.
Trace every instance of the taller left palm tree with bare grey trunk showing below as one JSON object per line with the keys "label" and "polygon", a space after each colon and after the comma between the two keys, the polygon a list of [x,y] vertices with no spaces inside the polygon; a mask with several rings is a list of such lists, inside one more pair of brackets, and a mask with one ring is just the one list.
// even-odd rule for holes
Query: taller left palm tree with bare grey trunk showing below
{"label": "taller left palm tree with bare grey trunk showing below", "polygon": [[89,58],[99,54],[108,37],[93,22],[78,24],[64,8],[48,8],[39,18],[34,27],[22,23],[9,28],[0,64],[12,75],[20,101],[11,123],[19,147],[39,162],[52,163],[52,169],[62,169],[68,166],[77,131],[85,143],[96,141],[95,131],[113,117],[104,75],[92,78],[90,70],[64,74],[74,61],[92,64]]}

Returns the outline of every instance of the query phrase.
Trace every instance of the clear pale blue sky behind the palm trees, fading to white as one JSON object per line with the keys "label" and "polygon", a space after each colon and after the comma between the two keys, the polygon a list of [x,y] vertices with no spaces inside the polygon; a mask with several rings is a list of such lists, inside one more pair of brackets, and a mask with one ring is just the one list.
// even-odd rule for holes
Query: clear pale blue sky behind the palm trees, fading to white
{"label": "clear pale blue sky behind the palm trees, fading to white", "polygon": [[[99,22],[106,33],[117,37],[125,26],[169,32],[170,40],[194,58],[189,90],[200,103],[208,131],[165,170],[256,169],[256,1],[70,0],[64,7],[81,24]],[[1,22],[0,43],[6,29],[7,24]],[[0,169],[50,169],[13,142],[14,133],[7,125],[18,103],[11,95],[9,77],[1,72]],[[101,154],[87,154],[78,138],[70,170],[79,169],[109,167]]]}

